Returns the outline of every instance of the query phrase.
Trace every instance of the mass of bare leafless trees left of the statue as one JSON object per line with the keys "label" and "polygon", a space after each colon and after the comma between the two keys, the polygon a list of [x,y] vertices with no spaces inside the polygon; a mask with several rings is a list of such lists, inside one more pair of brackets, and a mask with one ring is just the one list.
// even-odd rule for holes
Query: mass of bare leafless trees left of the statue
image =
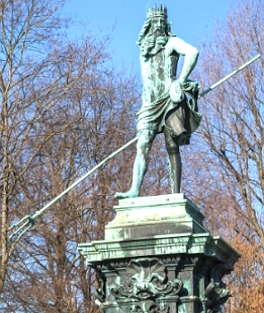
{"label": "mass of bare leafless trees left of the statue", "polygon": [[[134,134],[138,95],[115,71],[107,38],[71,42],[58,0],[0,2],[0,309],[98,312],[94,275],[77,252],[102,239],[117,177],[133,148],[38,219],[21,241],[10,226],[32,215]],[[118,135],[118,136],[117,136]],[[110,197],[111,196],[111,197]]]}

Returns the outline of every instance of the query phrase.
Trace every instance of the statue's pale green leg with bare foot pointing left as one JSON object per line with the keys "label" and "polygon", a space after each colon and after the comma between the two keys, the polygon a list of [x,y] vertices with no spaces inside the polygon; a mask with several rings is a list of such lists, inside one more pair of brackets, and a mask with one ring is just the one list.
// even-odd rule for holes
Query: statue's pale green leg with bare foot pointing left
{"label": "statue's pale green leg with bare foot pointing left", "polygon": [[132,187],[127,192],[116,192],[115,199],[139,197],[141,184],[148,168],[149,151],[155,136],[155,131],[142,130],[138,132],[137,155],[132,173]]}

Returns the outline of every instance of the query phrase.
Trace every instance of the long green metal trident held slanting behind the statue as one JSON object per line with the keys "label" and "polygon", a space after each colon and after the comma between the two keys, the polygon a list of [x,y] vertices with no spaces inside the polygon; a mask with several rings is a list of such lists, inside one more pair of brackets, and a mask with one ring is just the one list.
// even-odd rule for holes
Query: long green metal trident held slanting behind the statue
{"label": "long green metal trident held slanting behind the statue", "polygon": [[[245,67],[247,67],[249,64],[253,63],[254,61],[256,61],[257,59],[260,58],[260,55],[256,55],[255,57],[253,57],[250,61],[244,63],[242,66],[240,66],[239,68],[237,68],[234,72],[231,72],[230,74],[228,74],[225,78],[223,78],[222,80],[217,81],[217,83],[215,83],[214,85],[212,85],[211,87],[209,87],[209,89],[204,90],[200,96],[203,97],[206,94],[209,93],[209,91],[216,89],[219,85],[221,85],[224,81],[229,80],[232,76],[234,76],[235,74],[237,74],[238,72],[241,72]],[[91,173],[94,173],[99,167],[101,167],[102,165],[104,165],[108,160],[110,160],[111,158],[115,157],[118,153],[120,153],[123,149],[129,147],[132,145],[133,142],[135,142],[137,140],[137,137],[135,137],[134,139],[130,140],[129,142],[127,142],[125,145],[123,145],[123,147],[115,150],[115,152],[113,152],[110,156],[106,157],[103,161],[101,161],[98,165],[96,165],[95,167],[93,167],[91,170],[89,170],[88,173],[84,174],[78,181],[73,182],[71,186],[69,186],[66,190],[64,190],[62,193],[60,193],[57,197],[55,197],[55,199],[51,200],[50,202],[47,203],[47,205],[45,207],[42,207],[40,210],[38,210],[34,215],[30,216],[24,216],[18,223],[13,224],[13,226],[10,228],[10,231],[13,230],[13,233],[9,236],[9,239],[11,240],[13,237],[15,238],[15,241],[18,241],[21,236],[26,233],[28,230],[30,230],[31,227],[33,227],[35,225],[35,219],[38,216],[41,216],[42,213],[44,211],[47,210],[48,207],[51,207],[53,204],[55,204],[56,201],[58,201],[59,199],[61,199],[62,197],[64,197],[65,194],[67,194],[70,190],[72,190],[75,186],[77,186],[80,182],[84,181]]]}

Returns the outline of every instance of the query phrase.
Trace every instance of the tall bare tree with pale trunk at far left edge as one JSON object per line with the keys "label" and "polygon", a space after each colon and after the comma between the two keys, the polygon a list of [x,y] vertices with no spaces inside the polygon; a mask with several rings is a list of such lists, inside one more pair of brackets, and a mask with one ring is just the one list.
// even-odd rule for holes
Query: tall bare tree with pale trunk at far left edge
{"label": "tall bare tree with pale trunk at far left edge", "polygon": [[[54,106],[55,97],[60,97],[58,88],[67,88],[69,84],[65,84],[67,72],[52,71],[58,60],[47,51],[59,39],[57,28],[62,22],[55,16],[55,5],[36,0],[1,1],[0,9],[2,291],[7,262],[14,249],[14,245],[7,247],[7,231],[19,204],[19,182],[44,143],[59,130],[45,134],[35,151],[29,151],[28,141],[34,127]],[[54,101],[49,102],[52,93]]]}

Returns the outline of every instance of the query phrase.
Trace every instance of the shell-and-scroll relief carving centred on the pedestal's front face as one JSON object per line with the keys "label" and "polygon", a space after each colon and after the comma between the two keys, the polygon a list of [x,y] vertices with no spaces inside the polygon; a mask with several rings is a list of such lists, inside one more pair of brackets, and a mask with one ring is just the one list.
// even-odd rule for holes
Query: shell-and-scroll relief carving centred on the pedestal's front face
{"label": "shell-and-scroll relief carving centred on the pedestal's front face", "polygon": [[158,258],[133,259],[126,268],[127,286],[118,285],[111,292],[116,299],[149,300],[175,296],[183,282],[167,281],[166,266]]}

